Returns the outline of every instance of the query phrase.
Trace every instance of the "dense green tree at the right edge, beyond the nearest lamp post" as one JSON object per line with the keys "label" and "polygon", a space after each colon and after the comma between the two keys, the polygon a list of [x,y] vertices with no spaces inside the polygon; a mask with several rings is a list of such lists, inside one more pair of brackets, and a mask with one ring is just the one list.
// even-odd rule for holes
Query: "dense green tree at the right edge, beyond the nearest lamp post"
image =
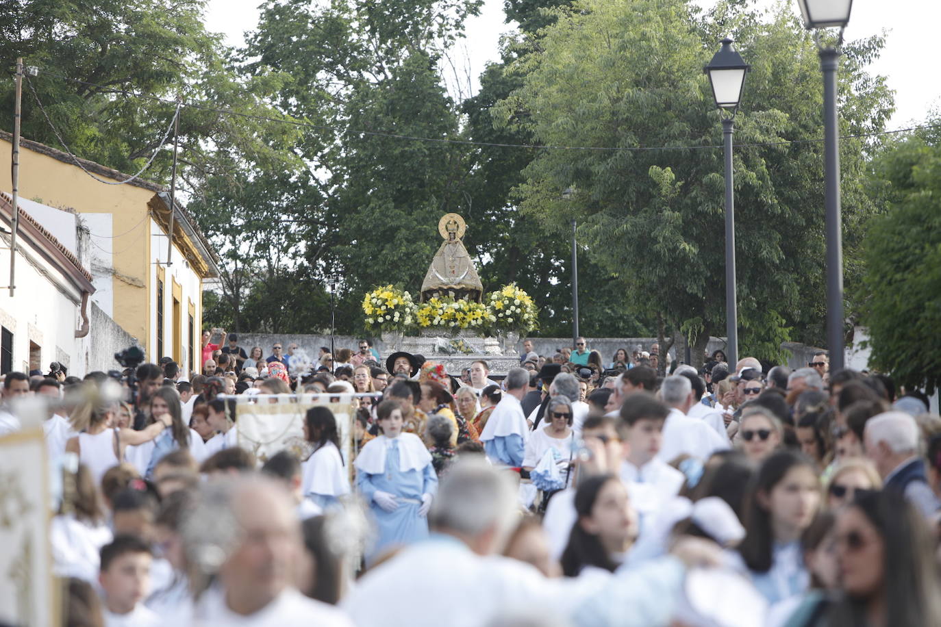
{"label": "dense green tree at the right edge, beyond the nearest lamp post", "polygon": [[871,189],[887,211],[872,219],[864,241],[861,323],[870,363],[933,394],[941,382],[941,132],[887,146],[873,164]]}

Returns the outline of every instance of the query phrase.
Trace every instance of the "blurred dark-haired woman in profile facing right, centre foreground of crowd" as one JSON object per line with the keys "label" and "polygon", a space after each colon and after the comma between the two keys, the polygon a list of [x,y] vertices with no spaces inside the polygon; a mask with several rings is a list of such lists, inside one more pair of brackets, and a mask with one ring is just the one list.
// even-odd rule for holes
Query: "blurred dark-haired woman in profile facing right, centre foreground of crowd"
{"label": "blurred dark-haired woman in profile facing right, centre foreground of crowd", "polygon": [[614,572],[637,536],[627,488],[614,475],[589,477],[575,494],[575,511],[578,520],[562,554],[563,574]]}

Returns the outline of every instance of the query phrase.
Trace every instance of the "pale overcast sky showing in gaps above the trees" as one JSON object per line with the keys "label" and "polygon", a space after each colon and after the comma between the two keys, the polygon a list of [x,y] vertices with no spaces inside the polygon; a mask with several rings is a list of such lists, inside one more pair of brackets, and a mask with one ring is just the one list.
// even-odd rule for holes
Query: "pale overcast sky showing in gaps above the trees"
{"label": "pale overcast sky showing in gaps above the trees", "polygon": [[[700,0],[710,5],[713,0]],[[771,0],[758,0],[762,6],[772,6]],[[242,45],[243,33],[258,23],[260,0],[209,0],[206,25],[211,31],[224,33],[230,45]],[[467,25],[467,39],[453,58],[458,76],[470,69],[472,84],[488,61],[500,58],[499,43],[502,33],[512,30],[503,23],[502,0],[485,0],[478,17]],[[891,8],[891,10],[886,10]],[[794,5],[796,11],[796,1]],[[895,0],[886,5],[877,0],[855,0],[853,16],[846,29],[847,39],[858,39],[879,33],[888,33],[882,57],[870,68],[873,73],[888,77],[888,86],[895,89],[896,112],[889,122],[890,129],[902,128],[909,122],[923,120],[931,108],[941,107],[941,81],[938,80],[938,24],[941,24],[941,2],[937,0]],[[455,80],[447,77],[454,89]],[[463,91],[466,92],[467,86]],[[463,93],[462,95],[467,95]]]}

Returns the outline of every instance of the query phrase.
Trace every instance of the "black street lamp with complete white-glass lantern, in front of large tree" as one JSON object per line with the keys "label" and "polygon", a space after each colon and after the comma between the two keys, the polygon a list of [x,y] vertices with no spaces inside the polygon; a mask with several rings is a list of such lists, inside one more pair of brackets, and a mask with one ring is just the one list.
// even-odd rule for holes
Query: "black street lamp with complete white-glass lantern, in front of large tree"
{"label": "black street lamp with complete white-glass lantern, in front of large tree", "polygon": [[735,294],[735,192],[732,178],[733,119],[742,100],[742,86],[750,66],[732,50],[732,40],[722,40],[719,49],[703,71],[709,76],[712,98],[722,118],[726,142],[726,358],[729,367],[739,360],[739,311]]}

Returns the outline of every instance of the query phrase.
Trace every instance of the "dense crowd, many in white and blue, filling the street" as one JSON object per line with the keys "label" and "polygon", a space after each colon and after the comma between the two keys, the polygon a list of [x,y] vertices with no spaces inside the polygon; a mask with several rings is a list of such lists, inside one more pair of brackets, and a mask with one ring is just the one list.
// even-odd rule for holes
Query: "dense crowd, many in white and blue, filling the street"
{"label": "dense crowd, many in white and blue, filling the street", "polygon": [[[199,372],[8,372],[0,435],[45,401],[65,625],[941,624],[924,394],[659,348],[449,373],[214,329]],[[299,454],[241,446],[263,395],[320,395]]]}

